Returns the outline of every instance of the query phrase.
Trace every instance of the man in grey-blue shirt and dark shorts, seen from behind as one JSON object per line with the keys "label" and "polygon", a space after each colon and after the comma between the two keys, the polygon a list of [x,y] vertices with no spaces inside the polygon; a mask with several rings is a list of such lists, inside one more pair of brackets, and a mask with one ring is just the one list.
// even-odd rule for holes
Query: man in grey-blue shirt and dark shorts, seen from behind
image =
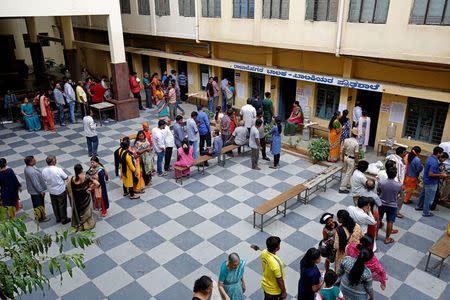
{"label": "man in grey-blue shirt and dark shorts, seen from behind", "polygon": [[397,176],[396,168],[389,168],[386,170],[386,173],[388,179],[381,180],[378,183],[378,191],[382,203],[379,208],[379,213],[380,222],[383,220],[384,214],[386,213],[387,226],[384,243],[390,244],[394,242],[394,239],[391,238],[391,233],[397,215],[397,200],[398,194],[402,192],[402,184],[395,180]]}

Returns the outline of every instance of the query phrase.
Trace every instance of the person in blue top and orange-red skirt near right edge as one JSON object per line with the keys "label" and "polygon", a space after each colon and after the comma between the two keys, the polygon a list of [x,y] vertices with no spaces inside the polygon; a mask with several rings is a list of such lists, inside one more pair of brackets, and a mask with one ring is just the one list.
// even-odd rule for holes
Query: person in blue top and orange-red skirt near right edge
{"label": "person in blue top and orange-red skirt near right edge", "polygon": [[420,172],[423,170],[422,161],[419,158],[419,153],[422,149],[419,146],[414,146],[405,156],[405,180],[403,181],[403,188],[405,190],[404,204],[412,203],[411,196],[413,191],[417,188],[419,182]]}

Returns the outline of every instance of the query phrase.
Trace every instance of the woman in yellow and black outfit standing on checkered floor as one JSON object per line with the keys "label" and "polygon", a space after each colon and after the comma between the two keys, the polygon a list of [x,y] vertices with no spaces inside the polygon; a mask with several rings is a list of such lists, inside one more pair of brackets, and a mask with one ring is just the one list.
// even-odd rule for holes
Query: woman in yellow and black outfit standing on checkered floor
{"label": "woman in yellow and black outfit standing on checkered floor", "polygon": [[130,196],[130,199],[139,199],[138,195],[134,194],[133,182],[138,180],[139,174],[136,172],[136,166],[134,164],[134,158],[132,154],[128,151],[130,147],[130,139],[124,138],[120,142],[120,148],[114,151],[114,165],[116,170],[116,176],[119,176],[119,166],[120,166],[120,177],[122,178],[123,184],[123,196]]}

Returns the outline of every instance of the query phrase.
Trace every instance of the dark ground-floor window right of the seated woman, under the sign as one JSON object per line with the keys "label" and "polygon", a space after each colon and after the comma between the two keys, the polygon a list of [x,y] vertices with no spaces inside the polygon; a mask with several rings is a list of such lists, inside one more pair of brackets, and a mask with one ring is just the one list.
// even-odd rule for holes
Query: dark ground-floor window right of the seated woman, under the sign
{"label": "dark ground-floor window right of the seated woman, under the sign", "polygon": [[341,88],[319,84],[316,97],[316,117],[329,120],[338,110]]}

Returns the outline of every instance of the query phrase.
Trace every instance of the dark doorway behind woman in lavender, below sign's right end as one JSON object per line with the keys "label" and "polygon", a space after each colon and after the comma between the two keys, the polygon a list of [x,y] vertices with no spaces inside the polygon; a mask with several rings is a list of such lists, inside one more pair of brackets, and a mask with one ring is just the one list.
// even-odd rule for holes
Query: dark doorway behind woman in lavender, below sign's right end
{"label": "dark doorway behind woman in lavender, below sign's right end", "polygon": [[382,93],[365,90],[358,90],[356,95],[356,99],[361,103],[362,110],[367,110],[367,116],[370,117],[369,146],[375,145],[382,95]]}

